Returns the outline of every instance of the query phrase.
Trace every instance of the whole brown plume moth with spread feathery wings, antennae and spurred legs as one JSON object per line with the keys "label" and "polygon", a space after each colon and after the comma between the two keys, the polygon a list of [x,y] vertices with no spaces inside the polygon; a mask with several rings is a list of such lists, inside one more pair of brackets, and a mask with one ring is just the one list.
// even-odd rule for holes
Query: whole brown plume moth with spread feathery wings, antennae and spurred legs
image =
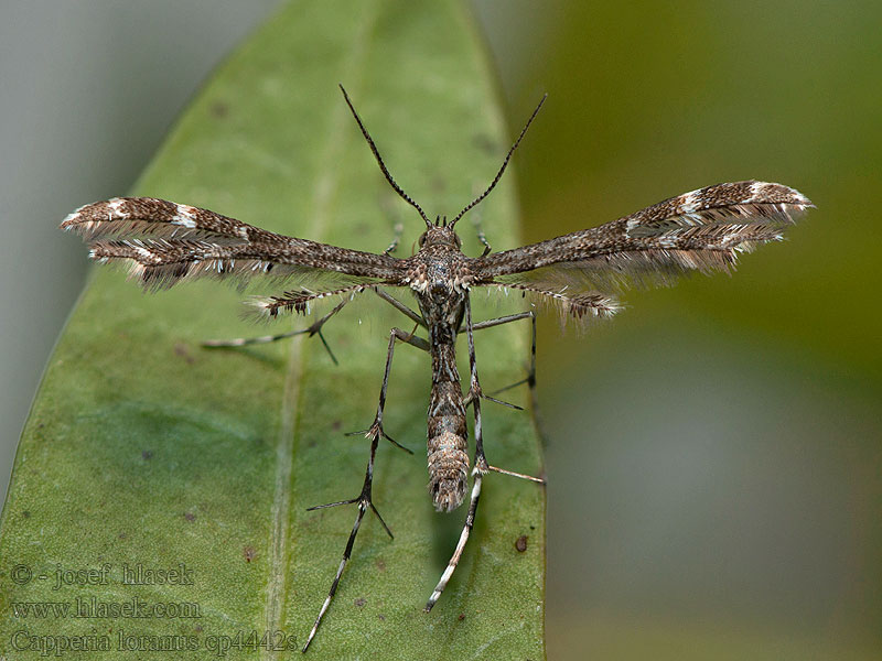
{"label": "whole brown plume moth with spread feathery wings, antennae and spurred legs", "polygon": [[[488,463],[484,453],[481,403],[484,399],[505,402],[482,391],[474,347],[476,330],[530,319],[529,371],[525,379],[510,387],[526,383],[535,409],[535,314],[529,311],[474,322],[471,294],[477,288],[505,293],[514,290],[556,306],[574,323],[607,318],[621,308],[616,294],[627,286],[668,284],[676,277],[691,271],[729,271],[735,266],[739,253],[781,240],[783,231],[805,209],[814,206],[799,192],[782,184],[756,181],[723,183],[673,197],[605,225],[502,252],[491,251],[490,242],[478,228],[478,240],[484,250],[478,257],[469,257],[462,251],[455,226],[499,182],[545,97],[508,150],[490,185],[452,220],[435,217],[432,221],[392,178],[348,95],[342,86],[341,89],[387,182],[417,210],[426,225],[418,241],[419,250],[411,257],[390,254],[398,245],[398,232],[384,252],[364,252],[270,232],[207,209],[153,197],[118,197],[86,205],[62,223],[63,229],[84,237],[92,259],[128,266],[130,274],[149,290],[206,277],[241,282],[268,275],[273,282],[290,283],[290,289],[281,293],[251,301],[256,312],[266,317],[292,312],[302,314],[314,301],[332,295],[341,297],[337,305],[308,328],[251,339],[211,340],[205,346],[232,347],[300,334],[318,335],[336,362],[322,328],[353,296],[365,291],[376,293],[415,324],[410,333],[399,328],[389,332],[377,411],[374,422],[364,432],[370,441],[370,449],[361,494],[356,498],[312,508],[357,505],[358,511],[303,651],[309,648],[331,606],[368,510],[391,535],[373,502],[372,487],[380,438],[400,447],[383,426],[397,344],[409,344],[428,353],[431,359],[427,463],[429,491],[435,509],[450,512],[459,508],[469,492],[470,476],[472,479],[462,533],[426,604],[424,610],[428,611],[440,598],[462,557],[474,524],[484,476],[496,472],[544,483],[542,478],[497,468]],[[309,283],[309,289],[305,283]],[[409,290],[417,310],[385,291],[392,288]],[[418,332],[424,332],[427,336],[417,335]],[[469,347],[466,393],[462,391],[456,368],[456,337],[461,334],[466,335]],[[467,452],[469,407],[472,407],[475,437],[472,464]]]}

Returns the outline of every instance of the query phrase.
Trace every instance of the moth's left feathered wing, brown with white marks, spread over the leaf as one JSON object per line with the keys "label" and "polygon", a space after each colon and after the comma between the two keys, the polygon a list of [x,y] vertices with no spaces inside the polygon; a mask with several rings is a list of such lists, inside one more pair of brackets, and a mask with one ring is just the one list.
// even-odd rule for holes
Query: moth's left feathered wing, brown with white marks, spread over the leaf
{"label": "moth's left feathered wing, brown with white marks, spread over the leaf", "polygon": [[62,229],[83,236],[89,257],[118,261],[147,289],[194,278],[240,282],[269,277],[294,289],[256,300],[263,313],[306,308],[309,301],[399,281],[386,254],[336,248],[254,227],[207,209],[153,197],[116,197],[78,208]]}

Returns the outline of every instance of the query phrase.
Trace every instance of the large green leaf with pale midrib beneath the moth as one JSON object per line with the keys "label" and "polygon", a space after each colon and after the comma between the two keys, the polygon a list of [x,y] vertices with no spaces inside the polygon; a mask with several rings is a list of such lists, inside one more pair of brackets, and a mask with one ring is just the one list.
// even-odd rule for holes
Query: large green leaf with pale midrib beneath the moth
{"label": "large green leaf with pale midrib beneath the moth", "polygon": [[[397,181],[431,216],[455,214],[485,187],[510,143],[464,4],[297,2],[220,67],[135,193],[372,251],[388,245],[400,220],[399,254],[408,253],[422,221],[383,180],[338,82]],[[478,214],[495,249],[517,243],[512,173],[472,217]],[[461,227],[466,252],[478,253],[467,219]],[[30,659],[41,646],[106,643],[117,653],[121,644],[128,657],[120,658],[183,646],[175,659],[205,659],[209,646],[229,644],[225,657],[239,659],[303,643],[355,514],[353,507],[305,508],[357,496],[368,443],[343,433],[373,420],[388,328],[410,326],[363,294],[325,327],[338,367],[316,338],[201,349],[202,339],[261,333],[237,318],[240,297],[216,282],[142,295],[120,272],[96,269],[15,458],[0,522],[0,654]],[[520,299],[506,303],[475,296],[475,318],[518,310]],[[308,323],[298,317],[273,330]],[[523,378],[526,326],[477,334],[487,391]],[[374,489],[396,537],[365,519],[309,653],[540,659],[545,512],[533,484],[485,479],[460,567],[434,610],[422,613],[465,514],[434,512],[426,490],[429,388],[428,357],[399,346],[384,423],[416,454],[381,445]],[[523,390],[507,395],[526,405]],[[528,414],[492,403],[483,410],[491,462],[539,472]],[[515,548],[521,535],[526,551]],[[123,584],[123,566],[139,564],[180,568],[192,584]],[[58,575],[65,581],[55,589]],[[136,604],[139,615],[157,604],[196,604],[200,617],[25,617],[25,602],[69,604],[80,615],[96,615],[100,604]],[[263,632],[270,638],[261,640]]]}

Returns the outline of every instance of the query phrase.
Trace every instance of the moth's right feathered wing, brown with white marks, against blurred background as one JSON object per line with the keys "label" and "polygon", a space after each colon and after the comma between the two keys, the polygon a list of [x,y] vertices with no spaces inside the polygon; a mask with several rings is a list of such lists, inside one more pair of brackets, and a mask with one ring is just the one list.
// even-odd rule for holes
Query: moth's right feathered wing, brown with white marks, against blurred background
{"label": "moth's right feathered wing, brown with white marks, against blurred background", "polygon": [[473,260],[475,284],[526,290],[585,321],[619,310],[610,295],[729,271],[739,252],[783,238],[811,202],[767,182],[717,184],[600,227]]}

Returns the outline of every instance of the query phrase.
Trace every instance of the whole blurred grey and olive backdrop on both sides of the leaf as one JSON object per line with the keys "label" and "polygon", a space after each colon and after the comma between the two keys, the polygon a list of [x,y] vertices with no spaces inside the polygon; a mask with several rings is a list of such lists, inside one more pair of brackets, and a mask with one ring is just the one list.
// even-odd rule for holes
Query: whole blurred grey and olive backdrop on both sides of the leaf
{"label": "whole blurred grey and olive backdrop on both sides of the leaf", "polygon": [[[56,220],[130,186],[275,4],[0,7],[7,446],[85,273]],[[882,658],[882,4],[473,6],[513,134],[549,94],[526,240],[720,181],[818,206],[732,278],[542,319],[549,658]]]}

